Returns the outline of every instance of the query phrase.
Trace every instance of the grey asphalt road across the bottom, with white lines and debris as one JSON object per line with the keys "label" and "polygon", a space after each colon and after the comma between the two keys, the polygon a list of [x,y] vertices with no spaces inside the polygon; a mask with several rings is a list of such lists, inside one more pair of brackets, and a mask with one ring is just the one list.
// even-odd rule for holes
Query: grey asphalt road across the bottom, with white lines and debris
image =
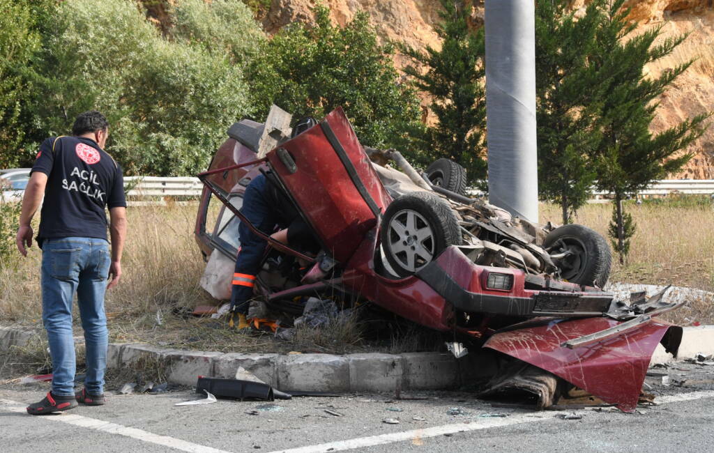
{"label": "grey asphalt road across the bottom, with white lines and debris", "polygon": [[[0,452],[714,451],[714,366],[678,367],[665,370],[675,381],[669,387],[660,376],[648,377],[648,391],[659,404],[634,414],[505,409],[457,392],[407,395],[426,399],[346,395],[176,407],[198,398],[180,390],[113,395],[104,407],[31,417],[25,405],[40,399],[48,385],[9,384],[0,386]],[[571,413],[582,418],[561,418]]]}

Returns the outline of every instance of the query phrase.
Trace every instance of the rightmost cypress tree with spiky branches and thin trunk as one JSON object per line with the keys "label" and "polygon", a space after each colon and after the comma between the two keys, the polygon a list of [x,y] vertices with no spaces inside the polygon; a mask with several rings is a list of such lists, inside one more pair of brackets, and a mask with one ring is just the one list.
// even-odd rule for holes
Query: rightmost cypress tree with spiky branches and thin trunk
{"label": "rightmost cypress tree with spiky branches and thin trunk", "polygon": [[692,61],[665,69],[659,76],[645,76],[645,65],[657,61],[681,44],[686,35],[658,41],[661,28],[628,36],[636,24],[628,21],[624,0],[610,0],[602,8],[604,20],[597,47],[590,58],[595,73],[588,91],[600,108],[600,143],[591,158],[598,188],[614,195],[610,238],[625,263],[635,223],[625,213],[623,200],[648,187],[654,180],[676,173],[689,161],[686,148],[705,130],[708,113],[682,121],[663,132],[650,132],[659,103],[656,101]]}

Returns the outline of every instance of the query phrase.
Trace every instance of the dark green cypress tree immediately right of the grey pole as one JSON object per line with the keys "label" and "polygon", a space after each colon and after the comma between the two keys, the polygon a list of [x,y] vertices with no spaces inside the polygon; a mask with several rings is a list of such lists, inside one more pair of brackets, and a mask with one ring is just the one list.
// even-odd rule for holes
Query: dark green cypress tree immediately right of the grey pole
{"label": "dark green cypress tree immediately right of the grey pole", "polygon": [[590,197],[595,170],[590,153],[600,141],[599,105],[586,102],[593,80],[588,56],[595,51],[602,0],[575,19],[567,0],[535,6],[535,82],[538,121],[538,195],[560,204],[563,223]]}

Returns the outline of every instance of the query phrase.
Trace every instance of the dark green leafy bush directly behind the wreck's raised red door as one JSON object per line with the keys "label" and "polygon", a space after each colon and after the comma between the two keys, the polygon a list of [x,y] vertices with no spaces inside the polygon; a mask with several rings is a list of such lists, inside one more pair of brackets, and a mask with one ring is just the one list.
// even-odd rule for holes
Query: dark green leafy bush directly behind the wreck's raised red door
{"label": "dark green leafy bush directly behind the wreck's raised red door", "polygon": [[315,9],[315,26],[293,24],[268,42],[250,66],[259,119],[276,103],[293,118],[321,118],[343,106],[364,145],[408,146],[408,130],[419,127],[416,93],[399,81],[392,49],[379,46],[366,14],[344,28],[329,11]]}

